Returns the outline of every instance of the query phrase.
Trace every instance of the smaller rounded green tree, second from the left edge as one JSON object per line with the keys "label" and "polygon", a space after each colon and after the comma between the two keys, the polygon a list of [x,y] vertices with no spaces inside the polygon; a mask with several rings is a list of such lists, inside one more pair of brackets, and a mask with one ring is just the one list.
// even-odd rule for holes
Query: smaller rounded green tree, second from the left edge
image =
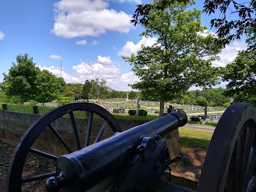
{"label": "smaller rounded green tree, second from the left edge", "polygon": [[51,102],[60,96],[63,86],[60,79],[57,79],[54,74],[48,70],[42,70],[36,76],[36,95],[35,100],[42,102]]}

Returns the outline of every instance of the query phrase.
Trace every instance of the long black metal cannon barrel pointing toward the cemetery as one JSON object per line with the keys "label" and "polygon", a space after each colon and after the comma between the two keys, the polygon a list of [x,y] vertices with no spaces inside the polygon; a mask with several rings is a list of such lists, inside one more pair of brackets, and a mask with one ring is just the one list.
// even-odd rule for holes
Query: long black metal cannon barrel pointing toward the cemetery
{"label": "long black metal cannon barrel pointing toward the cemetery", "polygon": [[61,156],[57,161],[58,176],[48,179],[47,186],[52,188],[54,185],[56,191],[60,188],[73,192],[86,191],[109,173],[118,172],[125,159],[138,147],[141,138],[163,138],[174,129],[185,125],[187,120],[186,113],[177,109],[161,118],[118,132],[111,138]]}

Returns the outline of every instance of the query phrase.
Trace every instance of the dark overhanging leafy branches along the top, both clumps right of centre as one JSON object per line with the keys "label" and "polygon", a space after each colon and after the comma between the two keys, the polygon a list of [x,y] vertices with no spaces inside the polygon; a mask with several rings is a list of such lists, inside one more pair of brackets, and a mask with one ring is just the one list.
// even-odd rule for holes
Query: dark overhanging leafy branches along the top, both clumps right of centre
{"label": "dark overhanging leafy branches along the top, both clumps right of centre", "polygon": [[[152,10],[164,10],[175,4],[175,0],[161,0],[155,4],[138,4],[136,11],[131,20],[134,25],[147,24]],[[188,4],[189,0],[182,0]],[[211,20],[211,27],[216,28],[217,35],[220,37],[218,43],[223,47],[229,44],[232,40],[240,39],[241,35],[246,34],[248,39],[249,49],[253,50],[256,46],[256,1],[238,2],[233,0],[205,0],[204,12],[218,14],[218,17]],[[238,18],[238,19],[237,19]]]}

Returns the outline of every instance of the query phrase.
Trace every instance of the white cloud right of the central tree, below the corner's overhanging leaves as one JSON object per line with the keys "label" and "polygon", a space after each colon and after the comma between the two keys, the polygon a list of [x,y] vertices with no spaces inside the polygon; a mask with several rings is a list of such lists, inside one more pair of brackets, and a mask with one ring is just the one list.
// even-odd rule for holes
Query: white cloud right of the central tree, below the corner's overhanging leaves
{"label": "white cloud right of the central tree, below the corner's overhanging leaves", "polygon": [[232,62],[236,57],[239,51],[243,51],[247,48],[245,42],[234,41],[230,45],[226,45],[218,56],[220,60],[214,61],[212,64],[215,67],[225,67],[228,63]]}

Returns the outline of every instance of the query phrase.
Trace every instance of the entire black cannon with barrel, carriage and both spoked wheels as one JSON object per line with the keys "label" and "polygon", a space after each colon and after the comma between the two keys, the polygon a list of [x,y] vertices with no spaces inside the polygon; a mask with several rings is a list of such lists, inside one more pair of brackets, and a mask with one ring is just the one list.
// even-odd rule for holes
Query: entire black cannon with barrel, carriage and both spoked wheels
{"label": "entire black cannon with barrel, carriage and both spoked wheels", "polygon": [[[74,118],[77,111],[86,111],[88,116],[83,141]],[[256,191],[255,112],[252,104],[234,103],[223,113],[207,150],[196,191]],[[103,118],[104,124],[91,141],[93,114]],[[70,147],[56,129],[58,118],[67,115],[76,147]],[[41,179],[46,180],[47,191],[193,191],[159,180],[170,164],[162,138],[186,122],[186,113],[176,109],[122,131],[115,118],[95,104],[73,103],[52,109],[27,129],[15,148],[8,169],[7,191],[22,191],[24,183]],[[101,140],[108,127],[113,136]],[[57,156],[52,150],[44,152],[33,147],[46,129],[65,148],[64,154]],[[24,166],[30,153],[51,159],[54,171],[26,175]]]}

